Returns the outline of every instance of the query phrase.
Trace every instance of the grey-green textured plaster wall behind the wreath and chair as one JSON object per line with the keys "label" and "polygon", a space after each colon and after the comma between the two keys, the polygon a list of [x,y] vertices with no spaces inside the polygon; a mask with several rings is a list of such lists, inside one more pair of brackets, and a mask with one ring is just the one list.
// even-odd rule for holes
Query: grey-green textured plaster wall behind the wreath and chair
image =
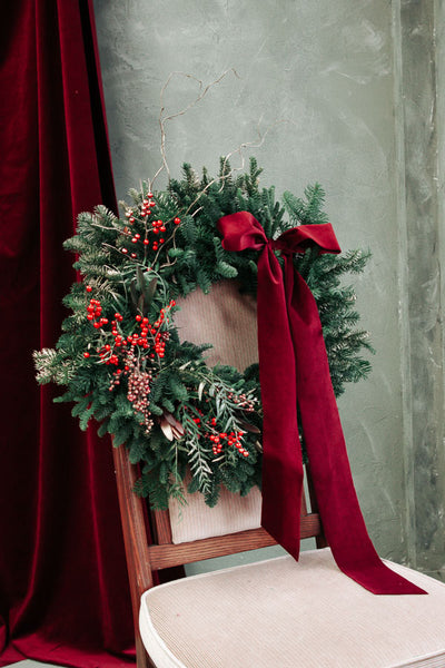
{"label": "grey-green textured plaster wall behind the wreath and chair", "polygon": [[[374,372],[339,403],[354,480],[379,553],[438,573],[443,245],[432,101],[443,72],[432,62],[442,2],[95,0],[95,8],[119,198],[160,166],[159,95],[169,75],[207,85],[234,68],[237,76],[166,125],[171,174],[184,161],[216,173],[219,156],[256,141],[244,155],[257,157],[265,185],[301,194],[319,181],[340,246],[370,248],[354,283],[377,350]],[[172,77],[166,112],[197,92],[194,79]]]}

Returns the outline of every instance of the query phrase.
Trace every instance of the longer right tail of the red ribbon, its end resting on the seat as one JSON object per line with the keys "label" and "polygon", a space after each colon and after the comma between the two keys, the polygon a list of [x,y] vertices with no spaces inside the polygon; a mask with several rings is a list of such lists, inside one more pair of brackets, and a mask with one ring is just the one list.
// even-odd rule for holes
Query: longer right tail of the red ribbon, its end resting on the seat
{"label": "longer right tail of the red ribbon, its end resting on the seat", "polygon": [[[293,267],[289,271],[294,274]],[[390,570],[369,539],[353,483],[318,308],[296,273],[289,317],[305,444],[324,531],[337,566],[373,593],[425,593]]]}

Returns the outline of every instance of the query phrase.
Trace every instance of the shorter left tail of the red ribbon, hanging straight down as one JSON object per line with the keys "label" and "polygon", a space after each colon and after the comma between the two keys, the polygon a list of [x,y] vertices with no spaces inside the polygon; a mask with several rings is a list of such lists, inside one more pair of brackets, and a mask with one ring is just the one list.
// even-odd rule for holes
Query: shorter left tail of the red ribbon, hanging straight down
{"label": "shorter left tail of the red ribbon, hanging straight down", "polygon": [[264,409],[261,524],[298,559],[303,461],[295,355],[281,267],[268,248],[258,262],[258,350]]}

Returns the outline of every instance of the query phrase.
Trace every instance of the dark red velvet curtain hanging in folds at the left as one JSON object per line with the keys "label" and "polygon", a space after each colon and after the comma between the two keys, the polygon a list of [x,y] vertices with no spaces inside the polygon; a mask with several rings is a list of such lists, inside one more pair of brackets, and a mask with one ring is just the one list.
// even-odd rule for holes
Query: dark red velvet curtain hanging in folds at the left
{"label": "dark red velvet curtain hanging in folds at the left", "polygon": [[116,207],[92,0],[3,3],[0,53],[0,666],[126,666],[110,444],[38,389],[31,357],[67,315],[77,214]]}

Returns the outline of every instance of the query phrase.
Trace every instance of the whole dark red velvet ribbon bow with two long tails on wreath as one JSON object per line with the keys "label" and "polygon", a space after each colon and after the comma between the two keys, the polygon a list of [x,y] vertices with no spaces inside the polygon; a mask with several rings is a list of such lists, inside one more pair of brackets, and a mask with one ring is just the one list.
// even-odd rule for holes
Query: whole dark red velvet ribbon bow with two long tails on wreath
{"label": "whole dark red velvet ribbon bow with two long tails on wreath", "polygon": [[[358,505],[330,381],[322,323],[293,254],[308,246],[339,253],[330,224],[300,225],[268,239],[247,212],[220,218],[227,250],[254,248],[258,259],[258,348],[263,424],[263,527],[299,556],[303,461],[301,416],[326,539],[343,572],[373,593],[425,593],[380,561]],[[285,259],[281,271],[277,250]]]}

